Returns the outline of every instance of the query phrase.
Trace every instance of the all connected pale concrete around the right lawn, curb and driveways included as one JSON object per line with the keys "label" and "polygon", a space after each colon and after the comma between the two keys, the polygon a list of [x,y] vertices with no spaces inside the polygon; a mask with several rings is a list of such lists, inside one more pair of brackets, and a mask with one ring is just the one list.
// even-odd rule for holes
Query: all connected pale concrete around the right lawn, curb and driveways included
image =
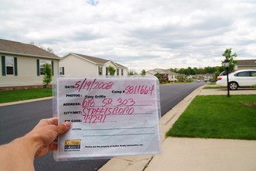
{"label": "all connected pale concrete around the right lawn, curb and driveways included", "polygon": [[[151,171],[151,170],[256,170],[256,141],[165,138],[181,113],[195,96],[226,95],[224,89],[196,89],[160,120],[162,153],[160,155],[139,155],[110,159],[100,171]],[[255,94],[256,89],[230,91],[235,94]],[[256,96],[255,96],[256,98]]]}

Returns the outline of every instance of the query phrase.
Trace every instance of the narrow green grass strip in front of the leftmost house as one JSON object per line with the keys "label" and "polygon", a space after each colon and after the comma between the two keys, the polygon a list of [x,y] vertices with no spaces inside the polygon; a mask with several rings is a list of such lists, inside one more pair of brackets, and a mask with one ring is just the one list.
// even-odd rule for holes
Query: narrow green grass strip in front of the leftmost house
{"label": "narrow green grass strip in front of the leftmost house", "polygon": [[37,99],[47,96],[52,96],[51,88],[1,91],[0,103],[15,102],[24,99]]}

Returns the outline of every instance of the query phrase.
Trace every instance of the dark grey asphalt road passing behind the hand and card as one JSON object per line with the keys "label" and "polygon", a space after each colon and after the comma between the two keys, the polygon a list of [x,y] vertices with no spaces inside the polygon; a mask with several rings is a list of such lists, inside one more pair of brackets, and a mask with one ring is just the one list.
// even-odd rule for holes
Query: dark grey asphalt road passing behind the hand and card
{"label": "dark grey asphalt road passing behind the hand and card", "polygon": [[[160,86],[160,105],[162,116],[188,96],[194,89],[202,86],[203,82],[190,84],[170,84]],[[40,119],[52,117],[51,100],[41,100],[33,103],[23,103],[0,107],[0,144],[12,141],[30,131]],[[86,170],[100,169],[108,160],[84,160],[73,162],[55,162],[52,153],[35,160],[35,169],[44,170]]]}

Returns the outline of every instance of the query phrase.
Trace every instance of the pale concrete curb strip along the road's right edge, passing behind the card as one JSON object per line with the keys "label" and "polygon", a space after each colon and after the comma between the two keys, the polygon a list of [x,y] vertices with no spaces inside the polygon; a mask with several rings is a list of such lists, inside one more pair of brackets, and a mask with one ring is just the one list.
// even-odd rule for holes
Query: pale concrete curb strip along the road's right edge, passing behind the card
{"label": "pale concrete curb strip along the road's right edge, passing behind the card", "polygon": [[[204,85],[205,86],[205,85]],[[166,139],[165,134],[170,127],[181,116],[181,113],[186,110],[191,101],[197,96],[204,86],[200,86],[186,96],[180,103],[174,106],[160,119],[160,136],[161,144]],[[163,149],[162,149],[163,150]],[[154,155],[131,155],[125,157],[114,157],[110,159],[99,171],[123,170],[123,171],[143,171],[149,165]]]}

